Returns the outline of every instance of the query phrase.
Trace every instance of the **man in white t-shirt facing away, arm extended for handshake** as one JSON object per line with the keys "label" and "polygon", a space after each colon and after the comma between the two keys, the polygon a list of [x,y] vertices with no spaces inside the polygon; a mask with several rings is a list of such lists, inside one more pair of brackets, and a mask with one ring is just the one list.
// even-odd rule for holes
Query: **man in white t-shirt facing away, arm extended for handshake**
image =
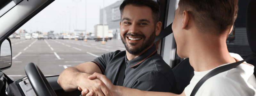
{"label": "man in white t-shirt facing away, arm extended for handshake", "polygon": [[[180,0],[172,24],[177,43],[177,54],[189,58],[195,75],[180,94],[190,96],[198,81],[220,66],[243,60],[238,54],[229,53],[226,39],[232,31],[238,10],[238,0]],[[236,68],[212,76],[196,92],[196,96],[256,96],[255,76],[251,64],[246,62]],[[167,92],[146,92],[115,86],[105,76],[94,73],[89,79],[98,78],[106,84],[107,95],[120,96],[176,96]],[[179,81],[177,81],[179,82]],[[85,92],[84,92],[85,91]],[[85,96],[89,91],[84,89]],[[92,95],[89,92],[87,95]],[[87,96],[86,95],[86,96]],[[106,95],[106,96],[107,96]]]}

